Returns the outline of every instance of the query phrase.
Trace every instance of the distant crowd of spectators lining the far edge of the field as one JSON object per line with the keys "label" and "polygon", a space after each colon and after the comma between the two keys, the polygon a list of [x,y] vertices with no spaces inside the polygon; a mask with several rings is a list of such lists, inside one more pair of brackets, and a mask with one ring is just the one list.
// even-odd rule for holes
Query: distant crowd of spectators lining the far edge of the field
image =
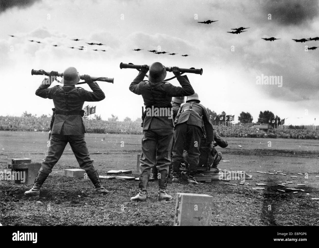
{"label": "distant crowd of spectators lining the far edge of the field", "polygon": [[[4,131],[49,131],[51,117],[11,117],[0,116],[0,130]],[[88,133],[112,134],[142,134],[141,120],[137,121],[104,121],[96,119],[83,119]],[[222,137],[241,138],[294,138],[294,139],[319,139],[319,130],[309,129],[276,129],[259,130],[252,125],[214,126]]]}

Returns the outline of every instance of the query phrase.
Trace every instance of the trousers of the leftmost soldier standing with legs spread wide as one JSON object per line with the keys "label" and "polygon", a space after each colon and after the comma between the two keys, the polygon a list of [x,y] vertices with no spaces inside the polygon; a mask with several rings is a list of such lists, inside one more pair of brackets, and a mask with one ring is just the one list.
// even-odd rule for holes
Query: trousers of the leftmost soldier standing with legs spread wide
{"label": "trousers of the leftmost soldier standing with legs spread wide", "polygon": [[75,136],[60,134],[51,135],[48,143],[48,151],[45,154],[45,158],[41,160],[40,171],[47,175],[52,172],[52,168],[61,158],[64,148],[68,142],[80,165],[80,168],[85,170],[87,174],[94,173],[96,169],[93,166],[93,160],[90,159],[84,135]]}

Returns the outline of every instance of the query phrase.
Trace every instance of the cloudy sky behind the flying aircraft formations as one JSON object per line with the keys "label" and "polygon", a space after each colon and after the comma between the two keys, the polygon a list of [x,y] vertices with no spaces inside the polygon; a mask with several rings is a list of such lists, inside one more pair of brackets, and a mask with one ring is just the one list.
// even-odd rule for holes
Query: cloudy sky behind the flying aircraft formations
{"label": "cloudy sky behind the flying aircraft formations", "polygon": [[[218,22],[197,23],[205,20]],[[120,120],[136,119],[143,99],[130,92],[129,85],[138,72],[120,69],[119,64],[159,61],[165,66],[203,68],[203,75],[188,74],[203,105],[234,114],[235,120],[241,111],[248,111],[256,122],[261,110],[270,110],[289,117],[286,124],[313,124],[314,118],[319,122],[319,48],[305,49],[319,46],[319,41],[292,40],[319,36],[318,0],[3,0],[0,23],[3,116],[50,113],[52,100],[34,94],[43,76],[31,76],[31,69],[63,72],[73,66],[80,74],[114,77],[114,84],[99,83],[106,99],[93,103],[97,114],[103,119],[111,114]],[[227,33],[238,27],[250,28]],[[280,39],[261,39],[269,37]],[[76,49],[79,46],[87,47]],[[144,50],[132,51],[137,48]],[[178,54],[147,51],[159,49]],[[282,87],[257,85],[262,74],[282,76]],[[179,86],[176,80],[170,82]]]}

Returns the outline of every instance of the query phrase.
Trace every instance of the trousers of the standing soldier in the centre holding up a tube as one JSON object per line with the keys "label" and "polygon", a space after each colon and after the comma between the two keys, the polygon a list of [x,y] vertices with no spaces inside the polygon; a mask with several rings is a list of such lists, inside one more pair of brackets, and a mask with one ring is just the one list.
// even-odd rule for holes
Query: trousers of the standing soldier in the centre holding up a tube
{"label": "trousers of the standing soldier in the centre holding up a tube", "polygon": [[160,174],[167,176],[171,164],[173,129],[143,130],[140,174],[151,174],[156,165]]}

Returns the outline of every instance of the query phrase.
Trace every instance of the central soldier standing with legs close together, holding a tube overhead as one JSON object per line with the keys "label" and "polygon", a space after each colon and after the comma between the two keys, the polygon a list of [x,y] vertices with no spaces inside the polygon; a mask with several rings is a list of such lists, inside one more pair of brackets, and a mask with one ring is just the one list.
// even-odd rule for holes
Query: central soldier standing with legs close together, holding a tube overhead
{"label": "central soldier standing with legs close together, holding a tube overhead", "polygon": [[[142,81],[150,69],[149,81]],[[132,201],[145,201],[147,196],[147,184],[151,174],[151,168],[157,163],[159,171],[158,199],[170,200],[171,195],[166,193],[168,167],[171,163],[170,153],[174,135],[174,119],[172,115],[151,116],[147,114],[150,108],[167,108],[171,110],[173,96],[190,96],[194,90],[184,77],[181,76],[178,67],[173,67],[172,72],[182,87],[176,87],[163,80],[166,77],[165,67],[159,63],[153,63],[150,68],[142,66],[140,73],[130,84],[130,91],[142,95],[146,107],[146,115],[143,121],[142,155],[140,157],[139,193],[132,197]]]}

